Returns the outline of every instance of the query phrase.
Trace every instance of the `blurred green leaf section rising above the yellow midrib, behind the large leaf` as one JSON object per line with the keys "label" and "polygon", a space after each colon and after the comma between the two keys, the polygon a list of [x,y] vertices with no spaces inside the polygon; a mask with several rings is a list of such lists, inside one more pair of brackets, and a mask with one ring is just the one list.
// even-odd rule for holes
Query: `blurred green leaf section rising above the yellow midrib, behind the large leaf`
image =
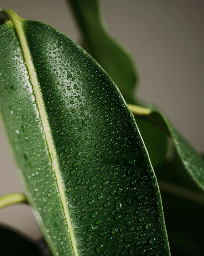
{"label": "blurred green leaf section rising above the yellow midrib, behind the large leaf", "polygon": [[109,34],[105,25],[102,2],[69,0],[83,35],[82,47],[111,76],[128,103],[135,104],[134,91],[138,75],[126,49]]}

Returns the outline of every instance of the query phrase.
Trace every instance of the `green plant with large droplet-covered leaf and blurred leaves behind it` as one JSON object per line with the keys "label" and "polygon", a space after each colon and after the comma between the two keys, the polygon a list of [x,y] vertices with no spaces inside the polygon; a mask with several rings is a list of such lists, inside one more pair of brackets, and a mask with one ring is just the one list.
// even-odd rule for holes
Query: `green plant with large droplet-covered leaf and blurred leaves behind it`
{"label": "green plant with large droplet-covered leaf and blurred leaves behind it", "polygon": [[[195,230],[185,230],[181,219],[196,209],[201,215],[192,225],[196,228],[202,217],[203,161],[158,108],[134,99],[132,61],[101,26],[97,2],[70,2],[86,39],[84,48],[131,103],[160,180],[169,237],[185,250],[184,237],[191,239]],[[21,20],[12,11],[1,15],[1,112],[27,199],[52,253],[169,255],[157,180],[133,114],[112,80],[57,30]],[[115,56],[110,58],[110,52]],[[177,152],[170,161],[167,136]],[[157,147],[152,146],[155,140]],[[193,245],[197,253],[198,238]]]}

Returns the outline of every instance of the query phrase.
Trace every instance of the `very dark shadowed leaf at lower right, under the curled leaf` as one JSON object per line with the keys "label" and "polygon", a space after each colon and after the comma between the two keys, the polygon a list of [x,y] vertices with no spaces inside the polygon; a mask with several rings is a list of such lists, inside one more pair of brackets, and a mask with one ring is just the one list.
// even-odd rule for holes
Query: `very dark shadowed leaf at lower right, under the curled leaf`
{"label": "very dark shadowed leaf at lower right, under the curled leaf", "polygon": [[171,252],[173,255],[203,255],[200,230],[204,228],[204,195],[187,175],[180,175],[182,166],[177,158],[176,155],[173,161],[155,169]]}

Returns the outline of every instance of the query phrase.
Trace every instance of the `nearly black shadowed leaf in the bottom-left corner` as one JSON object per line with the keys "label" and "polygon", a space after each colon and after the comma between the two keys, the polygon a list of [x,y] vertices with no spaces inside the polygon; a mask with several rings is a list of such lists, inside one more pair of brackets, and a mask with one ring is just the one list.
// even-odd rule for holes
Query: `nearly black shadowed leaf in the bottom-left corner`
{"label": "nearly black shadowed leaf in the bottom-left corner", "polygon": [[42,256],[37,245],[20,233],[0,226],[1,255]]}

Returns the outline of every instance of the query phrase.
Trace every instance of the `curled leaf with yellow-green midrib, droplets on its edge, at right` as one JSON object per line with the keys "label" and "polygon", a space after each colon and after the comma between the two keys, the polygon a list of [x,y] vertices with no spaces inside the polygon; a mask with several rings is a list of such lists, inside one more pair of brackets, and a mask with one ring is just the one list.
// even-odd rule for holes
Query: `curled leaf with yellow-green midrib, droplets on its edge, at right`
{"label": "curled leaf with yellow-green midrib, droplets on its edge, at right", "polygon": [[[175,149],[179,156],[179,160],[182,163],[182,168],[179,168],[178,172],[176,172],[175,175],[177,177],[179,176],[180,182],[182,182],[182,180],[184,179],[189,180],[190,177],[190,179],[193,180],[194,185],[196,184],[198,188],[204,192],[203,159],[188,143],[188,141],[186,141],[184,137],[179,134],[174,126],[170,124],[164,113],[154,106],[150,106],[150,108],[143,108],[134,105],[128,106],[134,115],[148,119],[155,126],[159,127],[167,135],[170,135],[172,137]],[[177,164],[179,164],[179,161],[177,161]],[[171,172],[174,172],[174,170],[172,170]],[[163,172],[163,174],[164,177],[167,176],[165,172]],[[183,183],[184,186],[188,187],[188,184],[186,182]]]}

